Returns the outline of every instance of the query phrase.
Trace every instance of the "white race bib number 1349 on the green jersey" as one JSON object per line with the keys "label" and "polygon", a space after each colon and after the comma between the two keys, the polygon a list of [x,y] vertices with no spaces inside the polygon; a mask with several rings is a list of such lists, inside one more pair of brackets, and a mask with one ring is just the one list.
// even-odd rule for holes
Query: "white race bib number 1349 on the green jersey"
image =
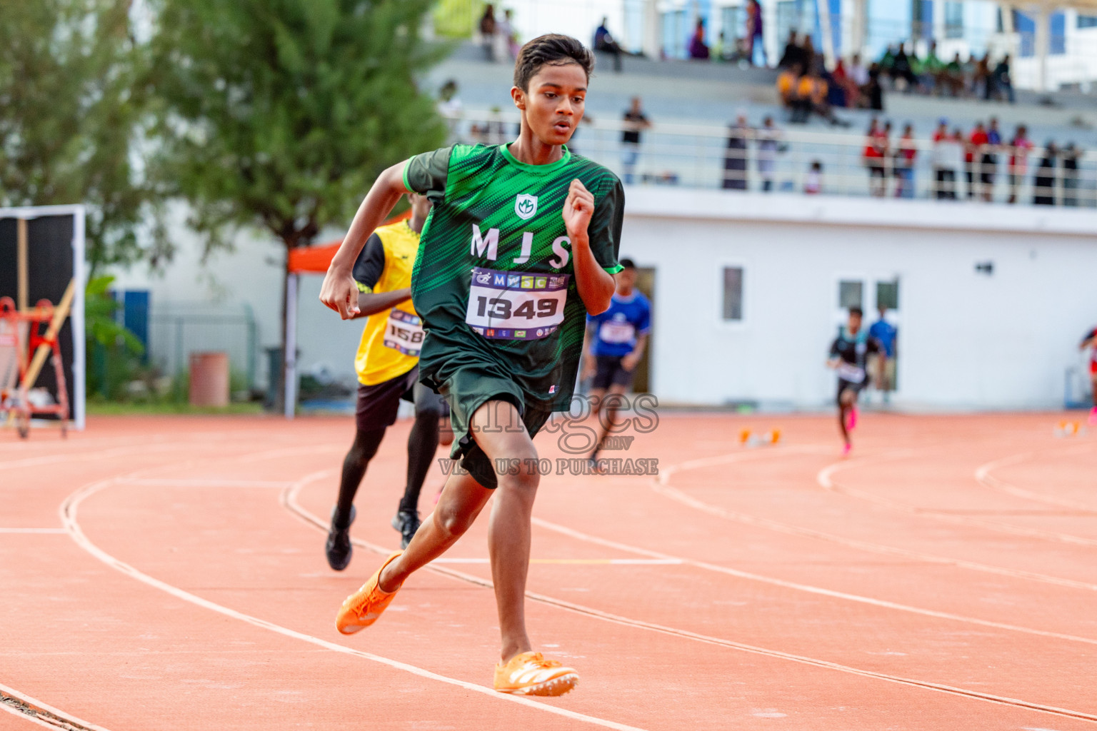
{"label": "white race bib number 1349 on the green jersey", "polygon": [[536,340],[564,321],[568,274],[473,269],[465,322],[485,338]]}

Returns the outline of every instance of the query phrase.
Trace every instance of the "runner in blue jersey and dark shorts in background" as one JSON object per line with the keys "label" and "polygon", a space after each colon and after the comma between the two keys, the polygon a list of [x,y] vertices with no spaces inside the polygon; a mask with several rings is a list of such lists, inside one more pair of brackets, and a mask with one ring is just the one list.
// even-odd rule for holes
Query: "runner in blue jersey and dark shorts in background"
{"label": "runner in blue jersey and dark shorts in background", "polygon": [[617,411],[624,404],[622,395],[632,387],[633,374],[644,355],[652,327],[652,305],[636,289],[636,265],[631,259],[622,259],[621,266],[623,269],[614,275],[617,289],[610,308],[601,315],[587,316],[583,377],[593,376],[590,402],[591,411],[598,418],[599,431],[590,454],[591,460],[598,458],[598,450],[613,426]]}

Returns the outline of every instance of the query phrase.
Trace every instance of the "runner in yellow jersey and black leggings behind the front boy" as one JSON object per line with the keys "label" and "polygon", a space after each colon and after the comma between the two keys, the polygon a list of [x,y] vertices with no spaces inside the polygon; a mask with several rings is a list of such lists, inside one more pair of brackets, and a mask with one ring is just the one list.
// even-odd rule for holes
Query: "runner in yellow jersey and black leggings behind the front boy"
{"label": "runner in yellow jersey and black leggings behind the front boy", "polygon": [[407,483],[393,518],[405,547],[419,528],[419,491],[438,448],[439,418],[446,412],[442,398],[418,382],[423,331],[411,306],[411,267],[430,202],[415,194],[408,198],[411,218],[376,229],[354,263],[360,317],[367,319],[354,357],[359,381],[354,444],[343,459],[326,547],[336,571],[350,563],[354,494],[385,430],[396,421],[400,399],[415,402],[416,415],[408,436]]}

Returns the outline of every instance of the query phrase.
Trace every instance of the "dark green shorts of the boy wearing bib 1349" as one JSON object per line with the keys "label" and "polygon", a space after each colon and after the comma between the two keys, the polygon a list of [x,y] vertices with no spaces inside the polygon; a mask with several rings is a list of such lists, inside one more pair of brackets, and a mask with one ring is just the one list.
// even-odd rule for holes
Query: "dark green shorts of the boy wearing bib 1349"
{"label": "dark green shorts of the boy wearing bib 1349", "polygon": [[[488,401],[513,403],[531,439],[552,415],[551,404],[531,402],[512,378],[488,363],[457,368],[445,379],[441,390],[451,407],[453,447],[450,457],[461,459],[461,467],[489,490],[498,487],[499,481],[491,460],[476,444],[472,434],[471,422],[476,410]],[[517,424],[497,426],[519,429]]]}

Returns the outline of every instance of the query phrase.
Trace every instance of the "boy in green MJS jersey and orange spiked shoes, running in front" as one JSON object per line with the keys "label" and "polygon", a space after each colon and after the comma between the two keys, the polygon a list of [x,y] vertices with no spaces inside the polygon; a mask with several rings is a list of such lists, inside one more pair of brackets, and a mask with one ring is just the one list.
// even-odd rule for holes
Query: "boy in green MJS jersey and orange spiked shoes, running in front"
{"label": "boy in green MJS jersey and orange spiked shoes, running in front", "polygon": [[[384,171],[363,201],[324,279],[320,299],[354,316],[351,267],[405,192],[430,198],[411,277],[427,336],[420,379],[450,403],[452,456],[461,459],[433,514],[354,594],[336,626],[372,625],[404,581],[441,556],[496,494],[488,550],[502,635],[495,688],[562,695],[570,667],[532,651],[525,631],[530,516],[539,483],[533,435],[569,408],[586,316],[604,311],[621,270],[621,182],[572,155],[593,58],[575,38],[525,44],[510,90],[521,112],[509,145],[464,146],[416,156]],[[509,469],[496,469],[509,466]]]}

